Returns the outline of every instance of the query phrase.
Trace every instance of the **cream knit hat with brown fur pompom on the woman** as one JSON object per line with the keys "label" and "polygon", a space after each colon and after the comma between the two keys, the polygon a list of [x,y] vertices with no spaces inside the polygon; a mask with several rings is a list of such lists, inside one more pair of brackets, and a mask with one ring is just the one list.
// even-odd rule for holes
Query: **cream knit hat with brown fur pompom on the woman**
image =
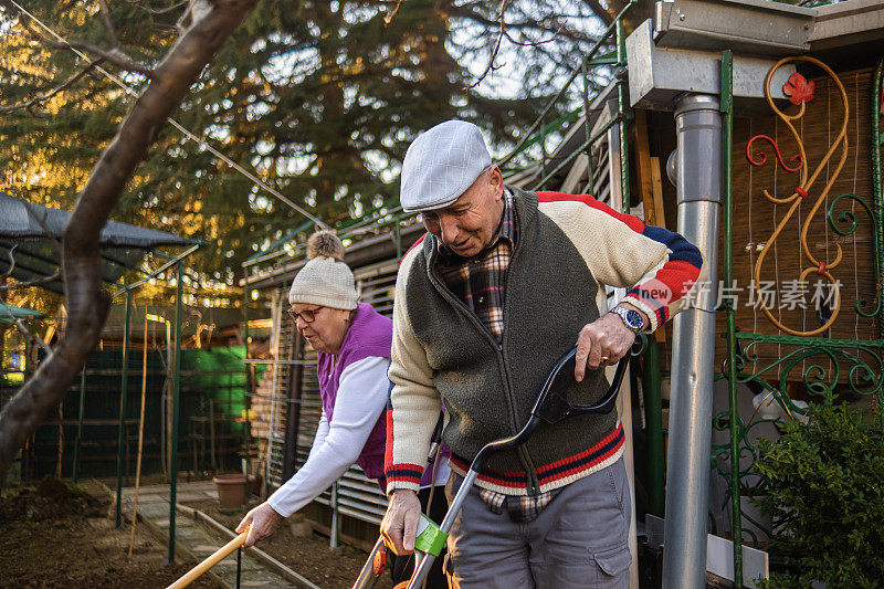
{"label": "cream knit hat with brown fur pompom on the woman", "polygon": [[307,240],[307,260],[292,281],[288,303],[355,309],[356,282],[344,263],[340,239],[332,231],[317,231]]}

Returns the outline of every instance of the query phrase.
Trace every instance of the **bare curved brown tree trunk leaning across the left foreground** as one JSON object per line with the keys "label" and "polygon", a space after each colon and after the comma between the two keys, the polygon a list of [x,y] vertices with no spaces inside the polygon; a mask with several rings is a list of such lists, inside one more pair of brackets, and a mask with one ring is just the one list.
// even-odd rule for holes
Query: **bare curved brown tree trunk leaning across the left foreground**
{"label": "bare curved brown tree trunk leaning across the left foreground", "polygon": [[166,119],[255,3],[191,2],[190,27],[154,71],[93,168],[64,232],[62,270],[69,307],[64,336],[0,412],[0,488],[15,452],[64,398],[98,341],[110,307],[110,295],[102,288],[102,228]]}

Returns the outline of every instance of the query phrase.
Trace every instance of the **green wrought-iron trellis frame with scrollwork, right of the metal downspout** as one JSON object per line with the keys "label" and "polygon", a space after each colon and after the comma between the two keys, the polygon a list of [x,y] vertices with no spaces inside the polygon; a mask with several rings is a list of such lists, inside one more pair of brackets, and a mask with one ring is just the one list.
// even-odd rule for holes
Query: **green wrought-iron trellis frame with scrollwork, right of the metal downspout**
{"label": "green wrought-iron trellis frame with scrollwork, right of the metal downspout", "polygon": [[[733,93],[732,93],[732,56],[729,52],[722,55],[722,113],[724,115],[724,275],[725,284],[733,283]],[[838,219],[834,218],[834,204],[841,199],[852,199],[859,203],[867,213],[869,221],[872,223],[872,235],[874,240],[874,264],[877,275],[875,287],[875,301],[873,311],[865,311],[863,307],[866,301],[855,301],[853,311],[866,318],[877,317],[878,326],[884,326],[884,198],[882,197],[882,165],[881,146],[884,145],[884,136],[881,134],[881,86],[884,77],[884,57],[882,57],[874,72],[872,88],[872,190],[873,201],[870,207],[866,201],[855,194],[840,194],[834,197],[827,210],[827,222],[829,227],[839,235],[850,235],[857,228],[857,219],[852,211],[842,211]],[[838,227],[840,223],[848,223],[849,229],[843,230]],[[804,337],[791,335],[768,335],[740,332],[736,325],[735,309],[730,301],[725,301],[726,312],[726,336],[727,356],[724,365],[723,377],[728,381],[728,410],[717,414],[714,419],[714,428],[719,431],[728,431],[729,440],[726,444],[713,446],[713,465],[728,483],[728,494],[726,502],[730,502],[730,513],[733,518],[733,539],[734,539],[734,572],[735,585],[743,587],[743,545],[744,535],[758,541],[757,535],[743,528],[743,522],[747,520],[756,527],[761,528],[746,513],[740,511],[741,491],[749,494],[764,491],[764,480],[758,476],[755,470],[755,462],[758,454],[753,442],[749,441],[750,431],[761,423],[778,422],[778,420],[760,419],[750,423],[737,413],[737,385],[753,383],[767,391],[780,407],[792,414],[802,416],[804,410],[791,402],[788,397],[786,385],[792,376],[796,367],[801,367],[801,382],[811,396],[820,398],[834,397],[842,391],[860,396],[875,395],[880,407],[884,407],[884,339],[863,340],[863,339],[833,339],[828,337]],[[842,302],[842,305],[846,305]],[[843,306],[846,309],[849,307]],[[785,354],[779,359],[772,360],[766,366],[757,367],[754,371],[747,371],[747,365],[758,360],[755,353],[756,346],[764,344],[778,344],[786,347]],[[810,360],[809,366],[803,366],[806,360]],[[831,362],[832,370],[827,371],[824,364]],[[778,376],[779,372],[779,376]],[[745,469],[740,469],[740,457],[751,457],[751,463]],[[725,457],[729,462],[729,469],[723,470],[717,466],[716,457]],[[758,481],[753,483],[751,481]],[[767,532],[767,530],[766,530]],[[772,535],[774,530],[769,532]]]}

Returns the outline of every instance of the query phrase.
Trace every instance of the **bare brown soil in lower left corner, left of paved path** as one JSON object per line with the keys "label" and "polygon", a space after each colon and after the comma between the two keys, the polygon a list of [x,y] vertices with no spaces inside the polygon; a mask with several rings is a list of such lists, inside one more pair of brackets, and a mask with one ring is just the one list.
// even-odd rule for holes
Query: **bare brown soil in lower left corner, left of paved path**
{"label": "bare brown soil in lower left corner, left of paved path", "polygon": [[[164,567],[166,548],[143,528],[127,557],[129,528],[116,529],[96,487],[70,488],[46,478],[0,497],[0,587],[157,588],[192,564]],[[202,577],[191,587],[214,588]]]}

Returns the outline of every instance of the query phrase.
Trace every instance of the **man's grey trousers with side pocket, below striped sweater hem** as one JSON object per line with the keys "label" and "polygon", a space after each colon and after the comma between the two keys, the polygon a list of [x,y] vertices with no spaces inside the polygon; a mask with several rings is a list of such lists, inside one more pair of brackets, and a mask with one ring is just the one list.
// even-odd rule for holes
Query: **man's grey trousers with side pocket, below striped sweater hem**
{"label": "man's grey trousers with side pocket, below striped sweater hem", "polygon": [[[462,482],[452,473],[449,502]],[[526,524],[488,509],[473,486],[449,536],[449,587],[629,589],[630,509],[622,459],[564,487]]]}

